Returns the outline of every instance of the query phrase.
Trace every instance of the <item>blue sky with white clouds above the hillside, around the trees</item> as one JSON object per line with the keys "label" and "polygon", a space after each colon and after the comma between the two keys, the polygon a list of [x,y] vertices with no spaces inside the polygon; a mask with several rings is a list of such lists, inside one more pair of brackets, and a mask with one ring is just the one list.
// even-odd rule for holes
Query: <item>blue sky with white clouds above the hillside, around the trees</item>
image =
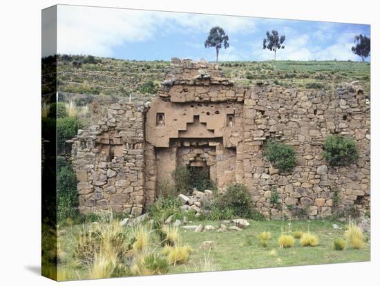
{"label": "blue sky with white clouds above the hillside, around the trees", "polygon": [[58,6],[57,50],[120,59],[213,61],[215,49],[204,46],[213,26],[229,35],[220,61],[272,59],[273,53],[263,50],[267,30],[286,36],[277,59],[293,60],[360,60],[351,51],[354,35],[370,36],[370,26],[360,24]]}

